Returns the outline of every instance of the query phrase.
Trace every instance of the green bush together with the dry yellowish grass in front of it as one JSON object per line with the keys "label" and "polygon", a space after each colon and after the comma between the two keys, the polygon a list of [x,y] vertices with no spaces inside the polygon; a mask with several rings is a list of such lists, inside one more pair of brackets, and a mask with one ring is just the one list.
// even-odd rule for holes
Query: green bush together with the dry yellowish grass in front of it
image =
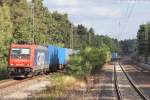
{"label": "green bush together with the dry yellowish grass in front of it", "polygon": [[52,85],[37,94],[34,99],[68,98],[69,93],[75,91],[74,89],[77,87],[86,90],[91,75],[96,70],[100,71],[102,66],[109,60],[110,49],[106,45],[100,48],[87,47],[71,57],[67,66],[67,73],[52,74],[50,76]]}

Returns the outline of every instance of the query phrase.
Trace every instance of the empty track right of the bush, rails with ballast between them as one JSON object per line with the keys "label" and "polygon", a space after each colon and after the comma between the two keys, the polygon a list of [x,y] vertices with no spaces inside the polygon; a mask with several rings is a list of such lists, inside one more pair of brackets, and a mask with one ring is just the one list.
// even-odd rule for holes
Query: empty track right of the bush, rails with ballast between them
{"label": "empty track right of the bush, rails with ballast between them", "polygon": [[[120,68],[119,73],[121,73],[122,77],[124,77],[124,79],[126,79],[124,81],[128,81],[127,82],[128,84],[126,85],[127,86],[126,88],[128,88],[128,91],[123,91],[123,88],[121,87],[121,84],[119,83],[119,77],[121,77],[121,75],[118,76],[117,68]],[[122,83],[126,83],[126,82],[122,82]],[[147,98],[147,96],[145,96],[145,94],[139,88],[137,88],[137,86],[135,85],[135,82],[133,82],[131,77],[128,75],[128,73],[126,73],[126,71],[124,70],[124,68],[122,67],[122,65],[120,63],[114,64],[114,84],[115,84],[115,90],[117,93],[118,100],[124,100],[124,99],[149,100]],[[125,94],[124,92],[126,92],[126,94],[128,94],[128,95],[126,95],[126,97],[124,96],[124,94]],[[129,97],[129,95],[130,95],[130,97]],[[131,96],[133,96],[133,97],[131,97]]]}

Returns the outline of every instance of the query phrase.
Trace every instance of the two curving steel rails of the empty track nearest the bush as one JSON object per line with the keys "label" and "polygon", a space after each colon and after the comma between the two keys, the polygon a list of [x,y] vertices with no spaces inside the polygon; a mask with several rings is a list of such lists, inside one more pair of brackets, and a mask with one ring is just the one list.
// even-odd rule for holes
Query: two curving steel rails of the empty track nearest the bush
{"label": "two curving steel rails of the empty track nearest the bush", "polygon": [[[133,82],[133,80],[131,79],[131,77],[124,70],[123,66],[120,63],[118,64],[118,66],[120,67],[122,73],[126,77],[128,83],[130,85],[130,89],[132,89],[132,91],[136,92],[136,94],[138,94],[138,97],[140,97],[141,100],[149,100],[144,95],[144,93],[139,88],[137,88],[137,86],[135,85],[135,83]],[[119,87],[118,76],[117,76],[117,71],[116,71],[116,64],[114,64],[114,85],[115,85],[115,90],[116,90],[116,94],[117,94],[118,100],[124,100],[124,97],[122,95],[121,89]]]}

